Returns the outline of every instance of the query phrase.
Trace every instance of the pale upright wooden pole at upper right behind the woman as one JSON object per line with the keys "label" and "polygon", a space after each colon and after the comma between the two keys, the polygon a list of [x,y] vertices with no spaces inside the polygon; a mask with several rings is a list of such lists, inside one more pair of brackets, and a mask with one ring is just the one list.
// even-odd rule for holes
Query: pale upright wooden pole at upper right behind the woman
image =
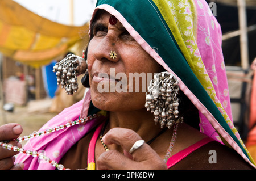
{"label": "pale upright wooden pole at upper right behind the woman", "polygon": [[247,37],[247,16],[246,16],[246,2],[245,0],[237,0],[238,19],[240,27],[240,52],[242,69],[249,68],[249,50]]}

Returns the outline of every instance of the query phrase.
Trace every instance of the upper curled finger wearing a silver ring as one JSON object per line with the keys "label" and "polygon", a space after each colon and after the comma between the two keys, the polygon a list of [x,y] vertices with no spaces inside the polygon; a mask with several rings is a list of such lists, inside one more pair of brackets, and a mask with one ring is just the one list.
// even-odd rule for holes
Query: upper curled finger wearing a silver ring
{"label": "upper curled finger wearing a silver ring", "polygon": [[[129,151],[134,143],[142,138],[131,129],[113,128],[102,138],[106,145],[117,144],[122,146],[125,151]],[[135,150],[132,154],[133,160],[137,162],[160,158],[158,154],[146,143]]]}

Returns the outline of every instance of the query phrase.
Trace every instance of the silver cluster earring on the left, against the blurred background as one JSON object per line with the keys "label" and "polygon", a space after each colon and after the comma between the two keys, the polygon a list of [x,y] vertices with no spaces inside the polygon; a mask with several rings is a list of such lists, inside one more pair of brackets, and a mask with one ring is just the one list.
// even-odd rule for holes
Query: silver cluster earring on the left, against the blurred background
{"label": "silver cluster earring on the left, against the blurred background", "polygon": [[68,54],[63,60],[53,66],[53,72],[56,72],[57,85],[61,85],[68,95],[77,92],[77,76],[85,73],[87,64],[84,58],[74,54]]}

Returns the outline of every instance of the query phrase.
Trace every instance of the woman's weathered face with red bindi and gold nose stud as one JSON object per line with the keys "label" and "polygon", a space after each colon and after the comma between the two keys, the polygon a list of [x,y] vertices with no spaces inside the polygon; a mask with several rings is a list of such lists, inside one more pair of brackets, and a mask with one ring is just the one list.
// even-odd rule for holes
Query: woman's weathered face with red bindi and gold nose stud
{"label": "woman's weathered face with red bindi and gold nose stud", "polygon": [[[92,102],[106,111],[142,109],[147,82],[160,66],[119,21],[110,23],[110,16],[100,10],[91,29],[87,60]],[[110,57],[111,51],[116,58]]]}

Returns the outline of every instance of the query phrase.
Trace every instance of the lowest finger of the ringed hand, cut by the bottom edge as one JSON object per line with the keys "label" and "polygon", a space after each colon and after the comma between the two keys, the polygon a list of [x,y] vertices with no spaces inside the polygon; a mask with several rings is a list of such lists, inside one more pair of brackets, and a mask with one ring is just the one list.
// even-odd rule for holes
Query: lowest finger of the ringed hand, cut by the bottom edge
{"label": "lowest finger of the ringed hand, cut by the bottom edge", "polygon": [[98,170],[131,170],[140,169],[139,162],[135,162],[117,150],[105,151],[96,161]]}

